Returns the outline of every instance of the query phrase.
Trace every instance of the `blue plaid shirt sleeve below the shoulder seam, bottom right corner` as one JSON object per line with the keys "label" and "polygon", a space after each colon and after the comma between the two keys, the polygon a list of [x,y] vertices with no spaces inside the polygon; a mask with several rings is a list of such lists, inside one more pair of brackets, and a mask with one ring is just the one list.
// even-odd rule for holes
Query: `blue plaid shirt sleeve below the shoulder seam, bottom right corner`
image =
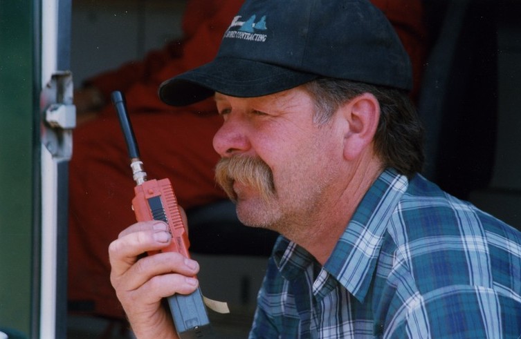
{"label": "blue plaid shirt sleeve below the shoulder seam, bottom right corner", "polygon": [[521,303],[507,291],[453,285],[405,300],[384,338],[519,338]]}

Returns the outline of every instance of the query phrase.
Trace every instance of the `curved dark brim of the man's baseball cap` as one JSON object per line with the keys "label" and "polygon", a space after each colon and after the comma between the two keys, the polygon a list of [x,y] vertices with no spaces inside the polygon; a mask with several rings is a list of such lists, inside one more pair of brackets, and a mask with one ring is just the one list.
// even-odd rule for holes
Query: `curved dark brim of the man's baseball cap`
{"label": "curved dark brim of the man's baseball cap", "polygon": [[215,92],[232,97],[262,97],[316,79],[318,75],[259,61],[217,57],[209,64],[168,79],[159,97],[172,106],[194,104]]}

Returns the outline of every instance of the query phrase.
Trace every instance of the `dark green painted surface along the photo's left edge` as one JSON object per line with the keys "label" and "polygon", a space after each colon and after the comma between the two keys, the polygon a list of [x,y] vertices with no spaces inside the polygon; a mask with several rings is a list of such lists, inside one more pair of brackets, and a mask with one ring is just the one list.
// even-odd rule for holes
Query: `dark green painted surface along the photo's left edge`
{"label": "dark green painted surface along the photo's left edge", "polygon": [[30,336],[33,2],[0,0],[0,327]]}

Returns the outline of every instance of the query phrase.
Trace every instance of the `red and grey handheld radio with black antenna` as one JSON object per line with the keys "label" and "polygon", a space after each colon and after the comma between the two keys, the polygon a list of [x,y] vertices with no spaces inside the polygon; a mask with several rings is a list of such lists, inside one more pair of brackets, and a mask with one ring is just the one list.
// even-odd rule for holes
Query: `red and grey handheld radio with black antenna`
{"label": "red and grey handheld radio with black antenna", "polygon": [[[147,180],[147,173],[143,168],[143,162],[139,159],[138,144],[134,136],[134,130],[127,113],[125,97],[120,91],[111,95],[112,103],[118,112],[121,128],[125,135],[132,175],[136,182],[132,200],[132,209],[136,213],[138,222],[148,220],[162,220],[170,226],[172,242],[163,251],[176,251],[190,257],[188,248],[190,242],[181,213],[177,204],[174,189],[168,179]],[[154,253],[149,252],[149,255]],[[191,294],[174,294],[167,298],[176,331],[182,339],[214,338],[214,333],[208,319],[201,289],[196,289]]]}

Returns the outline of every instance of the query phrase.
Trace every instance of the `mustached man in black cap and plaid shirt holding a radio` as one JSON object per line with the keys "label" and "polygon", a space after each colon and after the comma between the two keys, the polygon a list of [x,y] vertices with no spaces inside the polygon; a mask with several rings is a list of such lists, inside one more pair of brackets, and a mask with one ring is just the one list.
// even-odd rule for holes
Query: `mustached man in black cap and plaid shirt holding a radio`
{"label": "mustached man in black cap and plaid shirt holding a radio", "polygon": [[[518,338],[521,234],[425,180],[408,56],[365,0],[246,1],[210,64],[166,81],[214,95],[217,181],[239,219],[281,233],[250,338]],[[138,338],[176,338],[161,298],[196,262],[161,223],[109,249]]]}

